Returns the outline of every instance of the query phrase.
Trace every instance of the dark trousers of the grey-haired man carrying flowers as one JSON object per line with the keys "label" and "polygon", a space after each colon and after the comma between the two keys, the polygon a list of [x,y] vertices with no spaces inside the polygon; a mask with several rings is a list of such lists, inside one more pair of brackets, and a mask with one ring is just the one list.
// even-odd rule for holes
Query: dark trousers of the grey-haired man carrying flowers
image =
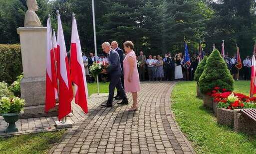
{"label": "dark trousers of the grey-haired man carrying flowers", "polygon": [[108,86],[109,95],[107,104],[112,104],[115,88],[119,91],[120,97],[125,100],[127,99],[126,94],[124,92],[124,88],[121,83],[121,75],[120,76],[110,76],[110,83]]}

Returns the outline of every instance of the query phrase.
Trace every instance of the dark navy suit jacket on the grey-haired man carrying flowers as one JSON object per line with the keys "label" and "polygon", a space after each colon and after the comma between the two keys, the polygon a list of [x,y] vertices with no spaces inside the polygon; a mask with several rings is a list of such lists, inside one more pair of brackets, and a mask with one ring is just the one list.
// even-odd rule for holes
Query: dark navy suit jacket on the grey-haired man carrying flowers
{"label": "dark navy suit jacket on the grey-haired man carrying flowers", "polygon": [[108,63],[110,65],[107,69],[107,73],[110,77],[122,75],[123,72],[120,64],[120,57],[117,51],[111,49],[110,54],[108,56]]}

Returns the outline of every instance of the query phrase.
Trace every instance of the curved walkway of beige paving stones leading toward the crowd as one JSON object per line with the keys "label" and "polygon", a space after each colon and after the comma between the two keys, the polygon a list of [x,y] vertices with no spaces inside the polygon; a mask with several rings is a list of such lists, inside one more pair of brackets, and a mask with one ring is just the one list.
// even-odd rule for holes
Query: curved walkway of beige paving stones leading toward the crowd
{"label": "curved walkway of beige paving stones leading toward the crowd", "polygon": [[[175,82],[142,82],[139,110],[129,105],[92,107],[76,129],[66,133],[53,154],[192,154],[170,110]],[[132,102],[131,95],[128,95]],[[96,103],[97,104],[97,103]]]}

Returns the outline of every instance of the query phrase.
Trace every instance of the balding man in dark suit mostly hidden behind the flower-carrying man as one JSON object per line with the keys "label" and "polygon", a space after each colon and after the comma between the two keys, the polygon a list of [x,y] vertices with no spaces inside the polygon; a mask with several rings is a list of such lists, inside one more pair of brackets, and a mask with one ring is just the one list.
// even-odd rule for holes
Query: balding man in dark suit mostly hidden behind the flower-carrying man
{"label": "balding man in dark suit mostly hidden behind the flower-carrying man", "polygon": [[[123,60],[124,60],[123,50],[118,47],[118,43],[116,41],[111,42],[111,48],[118,53],[119,58],[120,58],[121,68],[122,68],[122,71],[123,71],[123,69],[124,69],[123,68]],[[124,74],[123,73],[122,73],[122,76],[121,76],[121,81],[122,81],[122,86],[124,87]],[[120,91],[118,89],[117,89],[117,95],[116,95],[115,99],[122,99],[121,96],[120,96]]]}

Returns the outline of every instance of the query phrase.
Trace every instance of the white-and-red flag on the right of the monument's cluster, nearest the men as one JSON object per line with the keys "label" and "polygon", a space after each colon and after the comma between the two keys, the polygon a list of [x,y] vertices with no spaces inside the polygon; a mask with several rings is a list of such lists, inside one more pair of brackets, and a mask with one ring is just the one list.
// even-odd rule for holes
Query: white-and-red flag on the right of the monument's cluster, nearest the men
{"label": "white-and-red flag on the right of the monument's cluster, nearest the men", "polygon": [[75,103],[78,104],[85,113],[88,113],[88,89],[84,71],[81,44],[74,14],[71,33],[70,70],[71,79],[75,85]]}

